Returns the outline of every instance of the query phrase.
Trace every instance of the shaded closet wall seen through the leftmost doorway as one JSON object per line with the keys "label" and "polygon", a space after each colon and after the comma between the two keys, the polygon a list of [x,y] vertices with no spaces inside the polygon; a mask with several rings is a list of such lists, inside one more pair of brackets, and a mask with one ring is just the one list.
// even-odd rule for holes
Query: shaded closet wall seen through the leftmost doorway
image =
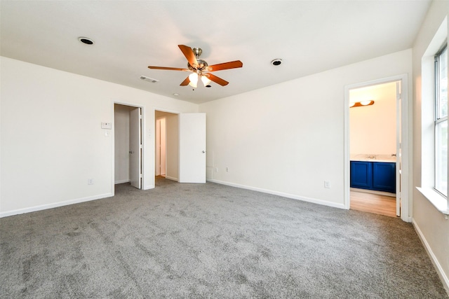
{"label": "shaded closet wall seen through the leftmost doorway", "polygon": [[129,106],[114,105],[114,183],[129,178]]}

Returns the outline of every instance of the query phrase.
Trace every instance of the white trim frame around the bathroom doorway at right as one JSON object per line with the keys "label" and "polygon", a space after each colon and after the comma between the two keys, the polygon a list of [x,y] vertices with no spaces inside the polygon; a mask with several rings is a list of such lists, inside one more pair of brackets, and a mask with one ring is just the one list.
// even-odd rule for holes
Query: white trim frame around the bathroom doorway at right
{"label": "white trim frame around the bathroom doorway at right", "polygon": [[[410,200],[410,144],[408,120],[410,116],[408,108],[408,74],[380,78],[373,81],[354,83],[344,86],[344,208],[350,207],[350,148],[349,148],[349,90],[364,88],[372,85],[401,81],[401,219],[406,222],[411,221],[411,200]],[[397,121],[397,118],[396,118]],[[398,138],[398,136],[396,137]],[[398,170],[397,170],[398,171]]]}

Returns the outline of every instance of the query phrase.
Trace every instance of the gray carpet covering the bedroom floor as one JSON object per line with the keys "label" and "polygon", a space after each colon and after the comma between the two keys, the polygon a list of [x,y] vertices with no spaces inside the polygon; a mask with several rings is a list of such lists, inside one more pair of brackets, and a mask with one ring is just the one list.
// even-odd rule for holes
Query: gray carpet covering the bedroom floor
{"label": "gray carpet covering the bedroom floor", "polygon": [[0,219],[1,298],[448,298],[413,226],[215,183]]}

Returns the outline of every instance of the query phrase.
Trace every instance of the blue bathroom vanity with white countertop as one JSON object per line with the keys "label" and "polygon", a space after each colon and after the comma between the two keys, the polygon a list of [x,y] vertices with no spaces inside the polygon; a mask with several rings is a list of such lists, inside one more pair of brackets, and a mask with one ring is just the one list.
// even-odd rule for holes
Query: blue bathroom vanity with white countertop
{"label": "blue bathroom vanity with white countertop", "polygon": [[396,193],[396,159],[368,157],[351,158],[351,188]]}

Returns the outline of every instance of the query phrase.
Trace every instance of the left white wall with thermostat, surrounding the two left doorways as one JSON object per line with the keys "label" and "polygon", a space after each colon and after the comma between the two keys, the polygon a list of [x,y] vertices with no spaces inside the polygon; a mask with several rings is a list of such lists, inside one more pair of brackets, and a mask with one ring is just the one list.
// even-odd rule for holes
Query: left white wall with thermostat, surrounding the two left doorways
{"label": "left white wall with thermostat, surrounding the two left doorways", "polygon": [[155,107],[198,111],[196,104],[123,85],[6,57],[0,62],[0,216],[112,195],[114,132],[100,123],[112,123],[114,102],[143,108],[145,189],[154,187]]}

